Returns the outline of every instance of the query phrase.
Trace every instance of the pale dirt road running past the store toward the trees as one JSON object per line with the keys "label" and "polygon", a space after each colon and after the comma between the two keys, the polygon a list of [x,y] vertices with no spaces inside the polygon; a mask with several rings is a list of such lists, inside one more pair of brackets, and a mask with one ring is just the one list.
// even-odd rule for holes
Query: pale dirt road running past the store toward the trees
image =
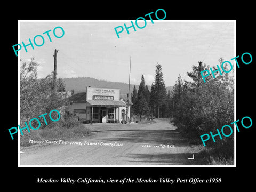
{"label": "pale dirt road running past the store toward the trees", "polygon": [[[21,147],[20,165],[199,165],[202,147],[188,145],[176,127],[153,124],[86,125],[92,135]],[[73,143],[65,143],[65,141]],[[194,159],[188,159],[193,158]]]}

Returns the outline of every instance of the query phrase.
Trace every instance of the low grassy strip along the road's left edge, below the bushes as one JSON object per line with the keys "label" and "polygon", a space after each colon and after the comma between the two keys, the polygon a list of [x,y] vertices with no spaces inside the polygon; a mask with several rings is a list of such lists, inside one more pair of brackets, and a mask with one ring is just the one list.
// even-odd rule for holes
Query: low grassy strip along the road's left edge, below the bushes
{"label": "low grassy strip along the road's left edge, below the bushes", "polygon": [[60,140],[60,139],[74,139],[79,138],[84,135],[89,135],[91,131],[87,129],[82,124],[78,124],[76,126],[66,128],[57,124],[52,127],[46,127],[44,129],[33,130],[30,133],[23,133],[24,135],[20,135],[20,145],[21,146],[30,146],[29,140],[33,139],[35,141],[42,140]]}

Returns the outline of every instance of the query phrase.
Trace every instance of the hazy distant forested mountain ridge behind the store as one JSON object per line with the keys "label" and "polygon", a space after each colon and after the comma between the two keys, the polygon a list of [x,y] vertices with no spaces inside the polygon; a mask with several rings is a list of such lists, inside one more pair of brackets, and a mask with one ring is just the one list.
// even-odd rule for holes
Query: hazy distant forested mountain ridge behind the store
{"label": "hazy distant forested mountain ridge behind the store", "polygon": [[[76,78],[62,78],[65,83],[66,91],[71,91],[74,89],[75,93],[86,91],[87,86],[91,87],[101,87],[101,88],[117,88],[120,89],[120,93],[128,93],[129,85],[122,82],[109,82],[105,80],[98,80],[91,77],[76,77]],[[151,90],[151,85],[147,85],[149,91]],[[132,93],[134,85],[130,84],[130,93]],[[137,91],[139,85],[135,85]],[[172,90],[173,86],[167,86],[166,90]]]}

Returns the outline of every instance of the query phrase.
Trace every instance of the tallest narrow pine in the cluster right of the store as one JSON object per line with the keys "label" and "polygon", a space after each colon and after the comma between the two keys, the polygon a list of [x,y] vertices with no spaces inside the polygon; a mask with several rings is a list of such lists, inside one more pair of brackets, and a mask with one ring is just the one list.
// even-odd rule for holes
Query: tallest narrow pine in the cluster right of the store
{"label": "tallest narrow pine in the cluster right of the store", "polygon": [[160,109],[163,105],[166,104],[166,87],[163,79],[162,67],[159,63],[157,63],[157,66],[156,66],[154,94],[155,94],[154,99],[157,107],[157,116],[159,118],[161,113]]}

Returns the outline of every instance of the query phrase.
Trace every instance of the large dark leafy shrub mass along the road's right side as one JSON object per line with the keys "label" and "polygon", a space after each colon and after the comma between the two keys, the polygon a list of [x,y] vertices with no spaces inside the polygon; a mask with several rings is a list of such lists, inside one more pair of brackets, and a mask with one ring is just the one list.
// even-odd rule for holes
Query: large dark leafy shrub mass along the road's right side
{"label": "large dark leafy shrub mass along the road's right side", "polygon": [[[217,128],[220,130],[234,121],[234,77],[225,73],[204,83],[200,75],[204,69],[206,66],[202,62],[199,62],[199,66],[193,65],[193,71],[187,73],[193,81],[183,83],[178,77],[172,92],[175,101],[174,123],[193,143],[202,143],[200,135],[210,134],[210,131],[217,133]],[[228,138],[222,137],[222,140],[216,138],[216,142],[210,138],[206,148],[211,150],[213,159],[233,158],[234,134]],[[220,159],[214,161],[219,162]]]}

